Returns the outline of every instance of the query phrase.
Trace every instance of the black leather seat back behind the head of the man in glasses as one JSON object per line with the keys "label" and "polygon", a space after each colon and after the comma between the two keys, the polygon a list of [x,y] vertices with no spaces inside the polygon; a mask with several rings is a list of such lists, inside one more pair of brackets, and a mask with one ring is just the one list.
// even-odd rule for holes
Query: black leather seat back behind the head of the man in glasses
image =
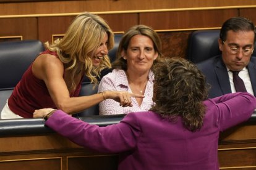
{"label": "black leather seat back behind the head of the man in glasses", "polygon": [[[193,63],[199,63],[220,55],[221,51],[218,45],[220,30],[198,30],[189,36],[187,59]],[[253,56],[256,56],[256,47],[254,46]]]}

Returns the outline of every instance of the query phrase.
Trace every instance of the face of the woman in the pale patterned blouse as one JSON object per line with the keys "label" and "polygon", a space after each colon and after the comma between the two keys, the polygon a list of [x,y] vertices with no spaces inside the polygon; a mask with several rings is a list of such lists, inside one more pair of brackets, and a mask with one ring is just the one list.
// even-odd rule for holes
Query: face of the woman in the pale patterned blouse
{"label": "face of the woman in the pale patterned blouse", "polygon": [[150,38],[137,34],[130,39],[127,51],[122,50],[122,57],[127,60],[127,72],[148,73],[158,52]]}

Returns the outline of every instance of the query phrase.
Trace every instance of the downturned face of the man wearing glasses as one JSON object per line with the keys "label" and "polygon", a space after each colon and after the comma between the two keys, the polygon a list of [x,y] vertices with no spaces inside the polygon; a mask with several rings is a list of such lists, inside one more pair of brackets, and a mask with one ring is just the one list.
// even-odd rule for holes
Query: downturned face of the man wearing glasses
{"label": "downturned face of the man wearing glasses", "polygon": [[[254,49],[254,31],[234,32],[229,30],[224,43],[219,39],[219,47],[225,65],[233,71],[242,70],[250,62]],[[237,49],[237,53],[234,52],[234,49]],[[250,52],[247,53],[247,50]]]}

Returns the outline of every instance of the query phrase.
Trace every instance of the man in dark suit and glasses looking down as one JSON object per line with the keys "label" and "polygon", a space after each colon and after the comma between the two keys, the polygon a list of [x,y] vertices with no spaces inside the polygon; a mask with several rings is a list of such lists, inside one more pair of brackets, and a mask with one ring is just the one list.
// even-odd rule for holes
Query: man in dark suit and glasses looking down
{"label": "man in dark suit and glasses looking down", "polygon": [[237,92],[233,81],[236,71],[244,81],[245,90],[256,95],[256,57],[251,57],[255,34],[254,23],[247,18],[233,17],[223,23],[218,39],[222,54],[197,64],[211,85],[209,98]]}

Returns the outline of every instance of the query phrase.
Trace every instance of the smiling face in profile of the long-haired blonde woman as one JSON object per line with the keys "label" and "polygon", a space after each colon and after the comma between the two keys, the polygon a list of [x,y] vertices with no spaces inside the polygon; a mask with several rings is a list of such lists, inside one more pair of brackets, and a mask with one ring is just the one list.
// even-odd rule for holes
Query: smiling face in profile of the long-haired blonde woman
{"label": "smiling face in profile of the long-haired blonde woman", "polygon": [[108,34],[105,34],[103,40],[101,41],[100,47],[96,49],[92,55],[93,66],[97,67],[100,65],[101,59],[108,54]]}

